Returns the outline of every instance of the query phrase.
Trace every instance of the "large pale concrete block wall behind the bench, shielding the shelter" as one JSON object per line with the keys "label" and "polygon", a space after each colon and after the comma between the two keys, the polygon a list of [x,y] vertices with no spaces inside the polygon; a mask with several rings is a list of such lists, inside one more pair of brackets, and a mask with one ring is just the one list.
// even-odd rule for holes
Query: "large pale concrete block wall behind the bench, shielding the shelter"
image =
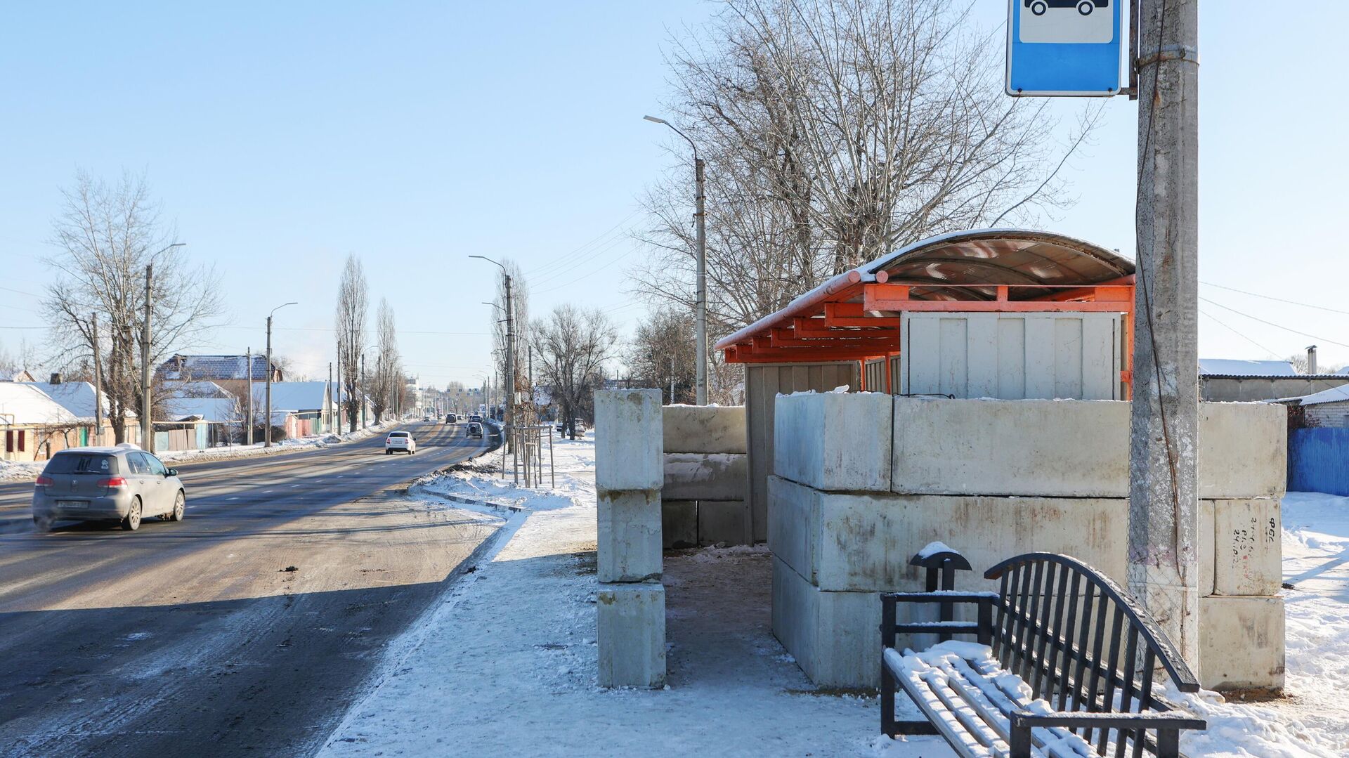
{"label": "large pale concrete block wall behind the bench, shielding the shelter", "polygon": [[[816,684],[876,684],[878,593],[921,589],[931,541],[975,566],[959,589],[1035,550],[1128,580],[1126,402],[795,395],[776,418],[773,629]],[[1201,406],[1206,687],[1283,685],[1286,429],[1279,406]]]}

